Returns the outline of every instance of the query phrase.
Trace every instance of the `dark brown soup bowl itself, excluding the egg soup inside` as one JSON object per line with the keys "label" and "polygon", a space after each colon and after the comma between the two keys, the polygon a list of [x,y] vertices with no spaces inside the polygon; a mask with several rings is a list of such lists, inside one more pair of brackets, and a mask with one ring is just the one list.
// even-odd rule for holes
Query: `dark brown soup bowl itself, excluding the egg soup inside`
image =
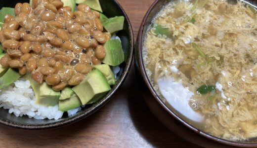
{"label": "dark brown soup bowl itself, excluding the egg soup inside", "polygon": [[[257,139],[246,142],[234,142],[212,136],[197,129],[190,123],[183,120],[173,109],[165,104],[152,87],[143,64],[143,41],[147,33],[147,28],[149,25],[151,25],[152,19],[161,10],[162,6],[170,1],[173,0],[156,0],[151,5],[149,10],[146,12],[145,17],[143,18],[135,44],[135,67],[138,84],[140,85],[140,89],[146,104],[157,116],[157,118],[160,119],[172,132],[196,145],[207,148],[227,148],[231,146],[257,147]],[[247,1],[250,1],[253,4],[256,4],[257,2],[256,0]]]}

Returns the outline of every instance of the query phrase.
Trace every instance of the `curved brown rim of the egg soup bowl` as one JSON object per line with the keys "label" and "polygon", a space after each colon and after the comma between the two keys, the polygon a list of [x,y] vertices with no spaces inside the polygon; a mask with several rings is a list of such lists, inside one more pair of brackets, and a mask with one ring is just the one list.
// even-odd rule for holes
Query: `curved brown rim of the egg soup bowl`
{"label": "curved brown rim of the egg soup bowl", "polygon": [[[156,4],[159,2],[160,0],[155,0],[152,5],[150,6],[150,8],[147,10],[147,12],[145,13],[145,16],[142,20],[142,23],[140,25],[139,31],[138,31],[138,35],[137,35],[137,39],[136,39],[136,44],[135,44],[135,54],[136,54],[136,60],[138,62],[137,67],[139,68],[139,72],[144,80],[144,82],[146,83],[148,89],[150,90],[151,94],[154,96],[154,98],[156,99],[156,101],[166,110],[168,111],[175,119],[177,119],[178,121],[180,121],[183,125],[185,125],[187,128],[193,130],[194,132],[202,135],[205,138],[208,138],[210,140],[213,140],[215,142],[221,143],[221,144],[225,144],[225,145],[229,145],[229,146],[236,146],[236,147],[257,147],[257,143],[240,143],[240,142],[234,142],[234,141],[228,141],[222,138],[218,138],[215,137],[211,134],[208,134],[206,132],[203,132],[199,129],[197,129],[196,127],[192,126],[191,124],[187,123],[186,121],[184,121],[182,118],[180,118],[175,112],[171,111],[170,108],[168,108],[161,100],[161,98],[158,96],[158,94],[155,92],[147,74],[146,74],[146,70],[144,68],[144,64],[143,64],[143,57],[142,57],[142,49],[143,49],[143,30],[145,27],[148,27],[146,25],[146,20],[149,16],[149,14],[151,13],[152,9],[156,6]],[[172,1],[172,0],[168,0],[168,1]]]}

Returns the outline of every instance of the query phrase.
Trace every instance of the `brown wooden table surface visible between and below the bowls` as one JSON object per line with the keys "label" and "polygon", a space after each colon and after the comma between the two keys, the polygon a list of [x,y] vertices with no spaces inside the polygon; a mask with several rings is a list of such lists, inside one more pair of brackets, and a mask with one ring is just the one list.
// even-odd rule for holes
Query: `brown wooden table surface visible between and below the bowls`
{"label": "brown wooden table surface visible between and below the bowls", "polygon": [[[134,37],[154,0],[118,0],[129,15]],[[0,125],[0,148],[187,148],[197,147],[168,130],[136,89],[134,66],[113,98],[89,117],[66,127],[26,131]]]}

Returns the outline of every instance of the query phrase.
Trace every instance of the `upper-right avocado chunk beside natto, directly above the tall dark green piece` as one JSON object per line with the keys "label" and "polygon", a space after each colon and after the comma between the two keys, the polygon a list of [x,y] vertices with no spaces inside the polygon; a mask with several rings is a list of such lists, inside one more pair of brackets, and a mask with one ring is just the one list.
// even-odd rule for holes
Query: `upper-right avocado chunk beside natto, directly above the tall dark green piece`
{"label": "upper-right avocado chunk beside natto, directly above the tall dark green piece", "polygon": [[124,16],[111,17],[103,23],[103,27],[112,34],[114,32],[123,30],[124,20]]}

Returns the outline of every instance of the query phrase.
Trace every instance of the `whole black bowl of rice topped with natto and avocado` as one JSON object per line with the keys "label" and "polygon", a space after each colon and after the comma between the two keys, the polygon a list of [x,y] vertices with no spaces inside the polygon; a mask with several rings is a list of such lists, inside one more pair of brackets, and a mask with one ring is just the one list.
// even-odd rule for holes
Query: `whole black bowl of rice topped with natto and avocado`
{"label": "whole black bowl of rice topped with natto and avocado", "polygon": [[35,130],[79,121],[111,99],[132,58],[116,0],[3,1],[0,123]]}

